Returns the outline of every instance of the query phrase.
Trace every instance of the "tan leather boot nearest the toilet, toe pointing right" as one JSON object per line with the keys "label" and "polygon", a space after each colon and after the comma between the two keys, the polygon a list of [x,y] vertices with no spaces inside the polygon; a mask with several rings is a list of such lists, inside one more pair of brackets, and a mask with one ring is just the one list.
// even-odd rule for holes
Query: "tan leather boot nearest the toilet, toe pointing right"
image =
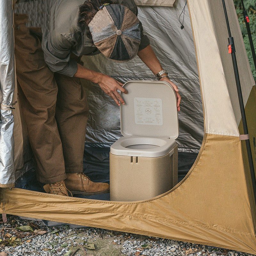
{"label": "tan leather boot nearest the toilet, toe pointing right", "polygon": [[109,193],[108,183],[93,182],[83,172],[66,174],[65,184],[72,194],[90,196]]}

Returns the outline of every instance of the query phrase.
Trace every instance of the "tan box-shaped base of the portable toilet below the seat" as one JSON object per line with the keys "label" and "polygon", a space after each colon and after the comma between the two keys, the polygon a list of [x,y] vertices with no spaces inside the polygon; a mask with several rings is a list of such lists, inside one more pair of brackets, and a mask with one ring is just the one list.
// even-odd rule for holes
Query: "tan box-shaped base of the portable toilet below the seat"
{"label": "tan box-shaped base of the portable toilet below the seat", "polygon": [[178,183],[178,146],[171,152],[159,157],[110,153],[110,200],[147,200],[173,188]]}

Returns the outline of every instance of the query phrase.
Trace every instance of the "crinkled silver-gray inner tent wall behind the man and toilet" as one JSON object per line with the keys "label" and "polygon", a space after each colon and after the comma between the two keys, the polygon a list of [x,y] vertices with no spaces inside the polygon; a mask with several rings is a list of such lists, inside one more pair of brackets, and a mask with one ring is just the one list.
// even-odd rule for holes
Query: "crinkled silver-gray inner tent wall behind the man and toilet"
{"label": "crinkled silver-gray inner tent wall behind the man and toilet", "polygon": [[[188,8],[185,9],[184,29],[180,28],[179,16],[185,3],[185,0],[177,1],[175,7],[139,6],[138,18],[160,63],[180,89],[182,102],[179,113],[180,135],[177,139],[179,151],[198,153],[204,136],[204,117]],[[28,13],[28,26],[47,26],[47,1],[18,3],[15,12]],[[172,24],[172,27],[166,24]],[[159,41],[162,42],[161,45]],[[139,57],[127,63],[115,63],[102,54],[83,56],[82,59],[85,67],[110,75],[121,82],[155,79]],[[119,108],[98,85],[85,80],[82,82],[90,107],[86,143],[109,147],[122,136]]]}

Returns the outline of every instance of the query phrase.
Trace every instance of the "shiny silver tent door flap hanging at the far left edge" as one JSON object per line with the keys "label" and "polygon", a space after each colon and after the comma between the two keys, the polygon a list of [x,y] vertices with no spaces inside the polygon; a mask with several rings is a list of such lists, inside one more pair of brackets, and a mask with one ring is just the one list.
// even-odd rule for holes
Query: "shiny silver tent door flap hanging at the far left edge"
{"label": "shiny silver tent door flap hanging at the far left edge", "polygon": [[14,185],[12,106],[15,87],[12,1],[0,0],[0,186]]}

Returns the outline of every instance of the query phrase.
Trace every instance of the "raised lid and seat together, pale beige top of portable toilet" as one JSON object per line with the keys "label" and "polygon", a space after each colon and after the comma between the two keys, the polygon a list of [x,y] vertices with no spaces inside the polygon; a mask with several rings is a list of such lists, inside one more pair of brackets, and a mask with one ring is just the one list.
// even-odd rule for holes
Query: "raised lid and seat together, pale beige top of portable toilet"
{"label": "raised lid and seat together, pale beige top of portable toilet", "polygon": [[[116,156],[159,157],[172,153],[179,135],[177,97],[164,81],[128,81],[121,92],[121,133],[111,147]],[[154,137],[153,137],[154,136]]]}

